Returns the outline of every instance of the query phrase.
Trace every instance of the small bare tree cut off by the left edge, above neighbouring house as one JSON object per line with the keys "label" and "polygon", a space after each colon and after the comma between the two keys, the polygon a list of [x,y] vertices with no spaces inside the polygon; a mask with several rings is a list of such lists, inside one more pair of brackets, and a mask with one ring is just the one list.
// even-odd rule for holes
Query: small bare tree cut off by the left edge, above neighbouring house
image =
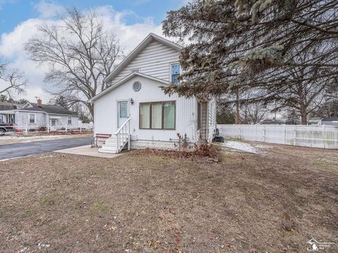
{"label": "small bare tree cut off by the left edge, above neighbouring house", "polygon": [[26,84],[22,72],[11,70],[6,64],[0,64],[0,94],[6,94],[11,98],[13,91],[23,93]]}

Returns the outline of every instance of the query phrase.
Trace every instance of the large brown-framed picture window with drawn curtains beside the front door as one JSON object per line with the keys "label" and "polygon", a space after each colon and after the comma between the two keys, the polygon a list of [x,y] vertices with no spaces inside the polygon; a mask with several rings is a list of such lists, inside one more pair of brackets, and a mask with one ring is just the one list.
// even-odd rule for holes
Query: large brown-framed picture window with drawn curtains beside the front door
{"label": "large brown-framed picture window with drawn curtains beside the front door", "polygon": [[175,129],[175,101],[139,104],[140,129]]}

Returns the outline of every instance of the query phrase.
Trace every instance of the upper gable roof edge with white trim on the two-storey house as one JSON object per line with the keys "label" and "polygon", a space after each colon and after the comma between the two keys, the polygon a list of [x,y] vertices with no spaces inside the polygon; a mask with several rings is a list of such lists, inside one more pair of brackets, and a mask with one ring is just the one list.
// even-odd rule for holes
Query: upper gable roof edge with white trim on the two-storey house
{"label": "upper gable roof edge with white trim on the two-storey house", "polygon": [[108,74],[106,79],[104,79],[104,82],[108,82],[114,77],[118,75],[118,73],[123,70],[134,58],[144,49],[146,46],[148,46],[151,41],[158,41],[161,42],[167,46],[170,46],[170,48],[173,48],[177,51],[181,51],[182,46],[173,43],[172,41],[168,39],[164,39],[161,36],[158,36],[154,33],[150,33],[134,50],[118,65],[118,67],[115,67],[115,69],[111,72],[111,74]]}

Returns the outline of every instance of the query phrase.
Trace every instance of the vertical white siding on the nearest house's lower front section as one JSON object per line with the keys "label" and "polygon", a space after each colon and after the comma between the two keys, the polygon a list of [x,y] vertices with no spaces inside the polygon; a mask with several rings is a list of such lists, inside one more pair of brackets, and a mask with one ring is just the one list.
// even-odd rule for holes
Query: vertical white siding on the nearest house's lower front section
{"label": "vertical white siding on the nearest house's lower front section", "polygon": [[[169,73],[169,72],[168,72]],[[142,89],[139,91],[132,90],[132,84],[136,81],[141,82]],[[183,98],[177,94],[172,96],[165,95],[159,86],[162,83],[146,77],[133,77],[113,91],[106,93],[101,98],[94,101],[94,132],[112,134],[116,131],[116,101],[132,98],[134,105],[130,105],[131,117],[131,135],[132,140],[154,140],[154,141],[177,141],[177,132],[184,135],[187,134],[190,142],[196,141],[196,98]],[[151,102],[171,102],[175,100],[175,129],[145,129],[149,128],[150,115],[140,122],[140,113],[144,110],[140,109],[142,103]],[[169,113],[169,112],[168,112]],[[109,117],[108,117],[109,115]],[[163,119],[164,120],[164,119]],[[168,121],[168,125],[173,123]],[[141,126],[141,127],[140,127]],[[144,127],[148,126],[148,127]]]}

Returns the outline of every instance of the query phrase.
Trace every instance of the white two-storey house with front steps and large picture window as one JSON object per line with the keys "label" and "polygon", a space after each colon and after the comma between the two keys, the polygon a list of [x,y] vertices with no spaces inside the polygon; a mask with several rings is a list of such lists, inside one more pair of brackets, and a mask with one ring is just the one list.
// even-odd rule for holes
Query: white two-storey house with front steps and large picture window
{"label": "white two-storey house with front steps and large picture window", "polygon": [[[111,134],[100,152],[131,148],[177,147],[211,141],[215,129],[215,100],[165,95],[161,86],[178,82],[181,46],[149,34],[106,77],[109,88],[89,100],[94,104],[94,136]],[[130,140],[130,141],[129,141]]]}

